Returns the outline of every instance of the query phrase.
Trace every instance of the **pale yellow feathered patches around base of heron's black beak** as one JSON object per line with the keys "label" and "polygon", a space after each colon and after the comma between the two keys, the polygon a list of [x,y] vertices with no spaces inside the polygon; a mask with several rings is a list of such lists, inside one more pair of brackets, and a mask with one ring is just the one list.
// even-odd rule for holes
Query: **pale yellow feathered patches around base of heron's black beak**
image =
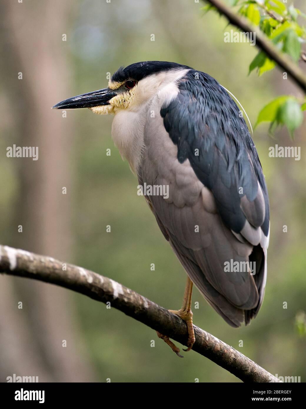
{"label": "pale yellow feathered patches around base of heron's black beak", "polygon": [[[117,90],[124,84],[124,82],[119,83],[110,81],[108,83],[108,88],[111,90]],[[115,114],[118,109],[126,109],[135,95],[136,87],[137,85],[130,90],[126,90],[126,92],[120,92],[118,95],[109,100],[110,105],[94,106],[89,109],[94,112],[94,114],[99,115]]]}

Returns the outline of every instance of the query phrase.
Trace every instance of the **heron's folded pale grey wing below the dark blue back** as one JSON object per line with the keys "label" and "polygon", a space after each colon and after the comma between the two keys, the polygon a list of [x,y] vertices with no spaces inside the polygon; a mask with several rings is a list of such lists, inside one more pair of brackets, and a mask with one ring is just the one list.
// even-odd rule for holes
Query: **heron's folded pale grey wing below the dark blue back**
{"label": "heron's folded pale grey wing below the dark blue back", "polygon": [[[146,199],[193,283],[228,324],[249,323],[260,308],[266,277],[268,240],[260,227],[255,227],[265,215],[261,187],[258,185],[254,200],[245,197],[242,202],[243,228],[238,232],[230,229],[214,194],[199,180],[189,159],[178,160],[178,146],[160,115],[146,122],[138,174],[141,184],[169,186],[169,198],[152,195]],[[224,263],[231,259],[256,261],[256,274],[225,272]]]}

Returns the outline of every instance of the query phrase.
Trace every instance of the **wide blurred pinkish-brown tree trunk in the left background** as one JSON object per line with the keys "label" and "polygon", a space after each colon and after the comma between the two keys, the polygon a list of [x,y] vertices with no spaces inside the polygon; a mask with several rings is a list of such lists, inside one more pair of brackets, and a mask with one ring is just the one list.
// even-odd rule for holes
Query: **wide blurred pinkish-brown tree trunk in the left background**
{"label": "wide blurred pinkish-brown tree trunk in the left background", "polygon": [[[58,102],[59,94],[70,94],[72,69],[62,34],[69,35],[73,5],[73,1],[61,0],[7,2],[2,13],[2,41],[10,57],[4,86],[16,121],[16,134],[7,143],[38,146],[37,161],[7,159],[15,161],[19,172],[12,223],[16,231],[7,243],[59,259],[70,254],[72,123],[50,107]],[[17,79],[18,72],[23,73],[22,80]],[[67,187],[67,194],[62,194],[62,187]],[[22,233],[17,232],[18,225]],[[1,344],[7,346],[9,339],[14,342],[11,353],[2,348],[1,381],[13,373],[38,375],[40,382],[92,381],[91,365],[79,348],[71,294],[27,280],[3,281],[1,302],[9,312],[0,318]],[[22,310],[18,310],[18,301],[23,302]],[[63,340],[67,347],[62,346]]]}

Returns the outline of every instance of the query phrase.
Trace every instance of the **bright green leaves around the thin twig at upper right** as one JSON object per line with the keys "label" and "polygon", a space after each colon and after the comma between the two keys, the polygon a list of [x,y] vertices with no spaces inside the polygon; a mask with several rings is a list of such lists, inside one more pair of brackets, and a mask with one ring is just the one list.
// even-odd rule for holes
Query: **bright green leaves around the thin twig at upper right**
{"label": "bright green leaves around the thin twig at upper right", "polygon": [[[205,12],[217,11],[232,25],[256,38],[260,51],[250,63],[249,74],[256,70],[261,76],[278,65],[283,70],[283,79],[287,79],[288,75],[306,92],[306,74],[297,65],[298,61],[306,60],[305,52],[301,49],[306,42],[306,30],[299,23],[306,18],[306,14],[293,4],[287,8],[280,0],[227,0],[228,5],[222,0],[205,1],[209,2],[203,7]],[[233,11],[234,7],[238,9]],[[255,127],[263,121],[270,122],[270,130],[285,125],[293,136],[303,121],[303,110],[306,110],[304,99],[283,95],[263,107]]]}

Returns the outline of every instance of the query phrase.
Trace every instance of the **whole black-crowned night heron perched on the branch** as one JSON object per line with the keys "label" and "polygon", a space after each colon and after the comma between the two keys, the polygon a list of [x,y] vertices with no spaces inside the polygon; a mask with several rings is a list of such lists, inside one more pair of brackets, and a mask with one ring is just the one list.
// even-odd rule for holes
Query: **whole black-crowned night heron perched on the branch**
{"label": "whole black-crowned night heron perched on the branch", "polygon": [[[186,65],[119,68],[108,88],[53,108],[114,114],[112,139],[137,175],[157,223],[187,272],[187,350],[193,283],[233,327],[256,317],[265,290],[269,200],[238,106],[214,78]],[[159,337],[179,355],[169,337]]]}

